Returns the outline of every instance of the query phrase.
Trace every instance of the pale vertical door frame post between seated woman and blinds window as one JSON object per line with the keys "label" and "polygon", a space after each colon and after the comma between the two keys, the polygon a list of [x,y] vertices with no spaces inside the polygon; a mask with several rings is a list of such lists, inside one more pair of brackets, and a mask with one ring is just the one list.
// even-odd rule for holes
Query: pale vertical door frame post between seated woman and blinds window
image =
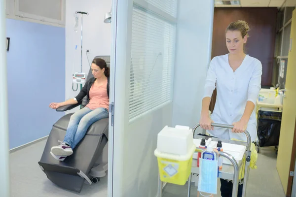
{"label": "pale vertical door frame post between seated woman and blinds window", "polygon": [[[123,192],[123,137],[125,130],[126,73],[130,60],[132,0],[112,0],[111,8],[111,57],[110,57],[110,99],[113,109],[109,110],[108,146],[108,197],[120,197]],[[116,73],[119,73],[116,75]],[[112,117],[113,115],[113,117]],[[113,120],[113,125],[112,125]]]}

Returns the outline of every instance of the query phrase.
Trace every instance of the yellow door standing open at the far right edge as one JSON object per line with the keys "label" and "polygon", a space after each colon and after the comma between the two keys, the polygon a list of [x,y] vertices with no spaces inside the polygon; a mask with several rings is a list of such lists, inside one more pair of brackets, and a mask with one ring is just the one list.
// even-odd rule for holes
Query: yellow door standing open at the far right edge
{"label": "yellow door standing open at the far right edge", "polygon": [[283,102],[281,134],[277,156],[277,170],[287,197],[291,197],[296,157],[296,9],[293,11],[291,35],[292,48],[289,51],[286,92]]}

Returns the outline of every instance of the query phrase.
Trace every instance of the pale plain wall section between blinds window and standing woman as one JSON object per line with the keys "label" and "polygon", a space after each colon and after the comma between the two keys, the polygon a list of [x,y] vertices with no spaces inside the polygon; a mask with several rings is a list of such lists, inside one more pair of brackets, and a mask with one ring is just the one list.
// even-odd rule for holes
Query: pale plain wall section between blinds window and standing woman
{"label": "pale plain wall section between blinds window and standing woman", "polygon": [[213,18],[214,0],[179,0],[173,126],[192,128],[199,122],[211,59]]}

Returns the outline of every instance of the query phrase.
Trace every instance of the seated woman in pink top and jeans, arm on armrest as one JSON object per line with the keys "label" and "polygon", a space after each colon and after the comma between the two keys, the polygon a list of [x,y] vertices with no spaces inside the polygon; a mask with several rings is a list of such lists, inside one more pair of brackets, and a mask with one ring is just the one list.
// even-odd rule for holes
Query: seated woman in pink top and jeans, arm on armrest
{"label": "seated woman in pink top and jeans, arm on armrest", "polygon": [[[84,137],[87,129],[96,121],[109,116],[109,84],[110,68],[103,59],[96,58],[91,64],[94,77],[85,82],[84,87],[74,99],[65,102],[52,102],[49,107],[59,108],[68,104],[76,104],[87,96],[87,105],[75,112],[71,118],[64,140],[51,148],[50,154],[59,161],[64,161],[73,154],[73,149]],[[107,87],[108,86],[108,87]]]}

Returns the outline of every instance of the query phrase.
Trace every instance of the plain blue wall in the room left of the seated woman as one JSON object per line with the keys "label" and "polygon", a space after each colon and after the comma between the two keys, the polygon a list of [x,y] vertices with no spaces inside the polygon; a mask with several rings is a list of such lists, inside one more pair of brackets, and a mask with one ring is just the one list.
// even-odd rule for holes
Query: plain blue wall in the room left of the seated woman
{"label": "plain blue wall in the room left of the seated woman", "polygon": [[[9,147],[46,136],[64,115],[65,28],[6,19]],[[62,140],[62,139],[61,139]]]}

